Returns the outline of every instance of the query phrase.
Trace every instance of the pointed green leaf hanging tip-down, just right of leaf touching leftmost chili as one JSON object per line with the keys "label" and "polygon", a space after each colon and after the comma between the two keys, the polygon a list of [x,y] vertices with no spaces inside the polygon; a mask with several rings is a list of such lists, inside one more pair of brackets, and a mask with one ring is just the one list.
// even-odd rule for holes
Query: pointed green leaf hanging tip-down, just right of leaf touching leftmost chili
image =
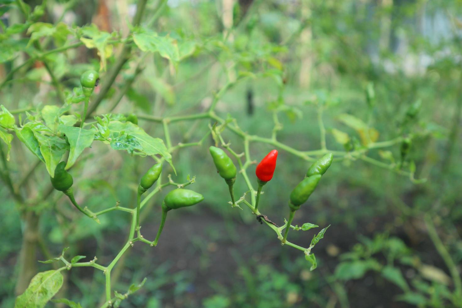
{"label": "pointed green leaf hanging tip-down, just right of leaf touching leftmost chili", "polygon": [[80,127],[66,126],[60,124],[58,130],[61,133],[66,134],[67,140],[69,141],[70,150],[69,158],[67,159],[66,169],[71,168],[80,154],[93,143],[95,132],[89,129],[83,129]]}

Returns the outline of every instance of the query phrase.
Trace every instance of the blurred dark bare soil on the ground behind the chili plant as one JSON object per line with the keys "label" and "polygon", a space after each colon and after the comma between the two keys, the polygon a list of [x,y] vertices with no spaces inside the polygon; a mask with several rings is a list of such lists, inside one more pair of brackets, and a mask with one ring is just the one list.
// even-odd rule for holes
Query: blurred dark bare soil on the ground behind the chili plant
{"label": "blurred dark bare soil on the ground behind the chili plant", "polygon": [[[232,221],[233,232],[226,228],[223,217],[212,211],[203,210],[201,213],[187,212],[178,215],[171,215],[164,227],[164,231],[156,248],[151,248],[141,242],[136,242],[130,250],[125,266],[129,263],[130,269],[125,268],[126,275],[122,274],[120,280],[130,282],[134,271],[142,272],[148,279],[152,279],[158,266],[168,264],[170,267],[164,276],[175,277],[175,274],[186,271],[186,287],[181,294],[172,292],[177,285],[174,281],[165,282],[156,291],[141,289],[143,297],[162,297],[162,307],[201,307],[202,300],[219,293],[219,290],[227,290],[227,296],[233,296],[236,285],[243,285],[244,279],[239,274],[240,264],[247,263],[251,268],[257,263],[268,264],[274,270],[287,272],[282,264],[287,260],[296,260],[301,252],[281,247],[274,232],[261,225],[257,220],[255,223],[246,224],[240,220]],[[271,218],[271,217],[270,217]],[[392,216],[388,217],[390,220]],[[358,235],[372,236],[375,231],[383,229],[387,219],[376,219],[369,223],[359,223],[361,230],[353,232],[342,224],[333,224],[326,232],[325,238],[316,245],[313,250],[318,260],[318,269],[313,272],[322,285],[319,292],[325,298],[333,295],[334,291],[326,283],[328,276],[334,272],[335,266],[339,263],[338,256],[331,256],[327,253],[328,245],[339,248],[339,252],[349,251],[358,242]],[[153,239],[156,235],[158,222],[143,223],[142,234],[147,239]],[[302,246],[310,241],[313,233],[292,232],[291,241]],[[121,234],[125,233],[121,230]],[[234,234],[234,236],[230,236]],[[432,256],[431,259],[438,262],[438,255],[432,250],[431,242],[415,242],[407,236],[404,229],[398,229],[395,236],[401,237],[404,242],[411,245],[411,248],[427,251],[424,254]],[[125,238],[112,235],[109,236],[110,246],[119,249]],[[92,245],[87,246],[93,252]],[[414,247],[412,247],[414,246]],[[105,252],[106,255],[113,255],[114,252]],[[88,252],[87,255],[92,255]],[[134,256],[138,259],[135,259]],[[140,262],[140,260],[142,260]],[[243,261],[246,260],[246,261]],[[105,262],[102,262],[103,264]],[[443,264],[435,264],[439,268],[445,268]],[[298,283],[300,277],[297,272],[289,273],[291,282]],[[293,274],[293,276],[292,276]],[[143,277],[140,278],[140,280]],[[167,279],[168,280],[168,279]],[[242,290],[242,288],[241,288]],[[365,277],[346,282],[345,290],[348,296],[350,307],[413,307],[403,302],[395,301],[395,297],[402,294],[401,290],[394,284],[377,278],[374,273],[368,273]],[[159,293],[160,292],[160,293]],[[131,306],[133,305],[133,306]],[[135,303],[130,305],[124,302],[123,307],[136,307]],[[310,302],[306,298],[299,298],[298,302],[288,307],[322,307],[317,302]],[[335,307],[340,307],[337,302]]]}

